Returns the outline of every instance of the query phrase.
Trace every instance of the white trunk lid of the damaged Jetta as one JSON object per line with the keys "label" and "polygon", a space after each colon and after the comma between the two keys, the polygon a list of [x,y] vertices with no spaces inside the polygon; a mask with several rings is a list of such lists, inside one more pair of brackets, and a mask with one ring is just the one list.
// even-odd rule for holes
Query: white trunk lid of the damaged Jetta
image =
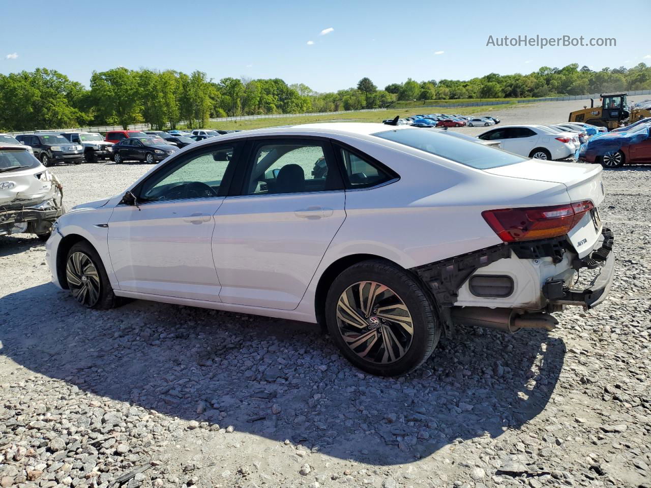
{"label": "white trunk lid of the damaged Jetta", "polygon": [[567,188],[570,202],[590,200],[594,204],[594,210],[587,212],[583,219],[570,230],[568,239],[579,254],[579,258],[587,256],[596,247],[602,232],[602,223],[597,207],[603,202],[604,197],[600,165],[530,159],[515,165],[501,166],[485,171],[510,178],[562,183]]}

